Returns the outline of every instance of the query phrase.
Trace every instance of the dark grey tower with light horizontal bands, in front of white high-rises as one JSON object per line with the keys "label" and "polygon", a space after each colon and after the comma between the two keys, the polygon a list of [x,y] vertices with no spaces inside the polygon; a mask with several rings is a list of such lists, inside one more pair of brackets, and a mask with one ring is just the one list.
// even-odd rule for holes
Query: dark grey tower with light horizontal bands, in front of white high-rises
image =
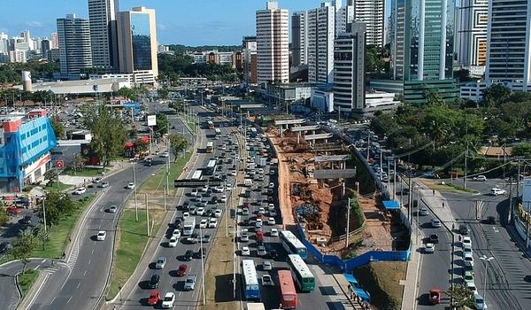
{"label": "dark grey tower with light horizontal bands, in front of white high-rises", "polygon": [[334,43],[334,109],[361,113],[365,108],[366,24],[352,23]]}

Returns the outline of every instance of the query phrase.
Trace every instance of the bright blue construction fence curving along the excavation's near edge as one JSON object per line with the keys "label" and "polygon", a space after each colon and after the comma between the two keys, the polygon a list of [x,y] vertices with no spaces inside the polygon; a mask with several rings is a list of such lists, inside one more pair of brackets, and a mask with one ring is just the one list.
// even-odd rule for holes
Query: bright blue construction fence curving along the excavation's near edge
{"label": "bright blue construction fence curving along the excavation's near edge", "polygon": [[312,253],[316,260],[322,264],[340,267],[342,272],[350,272],[353,269],[362,267],[371,261],[407,261],[411,255],[411,248],[406,251],[370,251],[361,254],[350,260],[342,260],[336,255],[326,255],[319,251],[310,241],[306,239],[304,229],[301,224],[296,224],[296,230],[304,246]]}

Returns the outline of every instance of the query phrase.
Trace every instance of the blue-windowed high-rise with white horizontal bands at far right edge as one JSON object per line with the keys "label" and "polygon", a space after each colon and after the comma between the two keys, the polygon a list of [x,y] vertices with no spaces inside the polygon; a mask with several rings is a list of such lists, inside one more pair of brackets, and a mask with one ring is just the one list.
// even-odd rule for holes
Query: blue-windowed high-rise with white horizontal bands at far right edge
{"label": "blue-windowed high-rise with white horizontal bands at far right edge", "polygon": [[487,84],[531,89],[531,0],[489,0]]}

